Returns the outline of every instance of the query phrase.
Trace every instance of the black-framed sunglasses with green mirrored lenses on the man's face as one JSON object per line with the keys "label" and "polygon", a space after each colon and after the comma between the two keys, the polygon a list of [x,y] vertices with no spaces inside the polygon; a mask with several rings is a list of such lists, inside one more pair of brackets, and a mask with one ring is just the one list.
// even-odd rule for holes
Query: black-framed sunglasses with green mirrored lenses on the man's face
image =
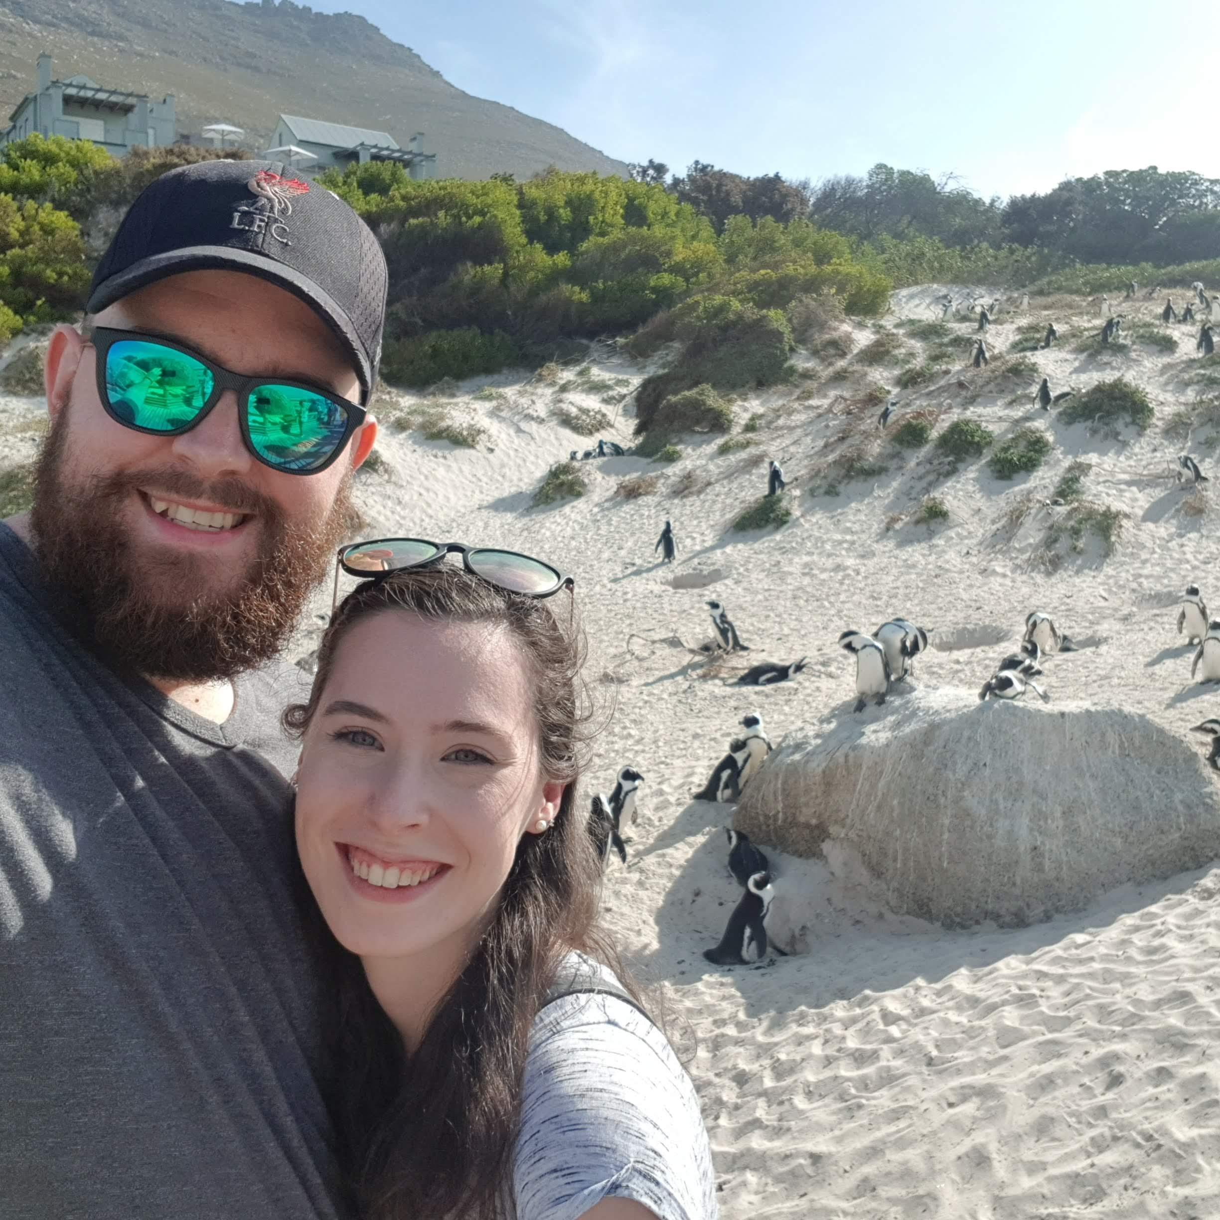
{"label": "black-framed sunglasses with green mirrored lenses on the man's face", "polygon": [[177,437],[195,427],[231,389],[245,447],[265,466],[285,475],[326,470],[367,414],[317,386],[229,372],[159,336],[99,326],[92,342],[98,350],[98,393],[116,423]]}

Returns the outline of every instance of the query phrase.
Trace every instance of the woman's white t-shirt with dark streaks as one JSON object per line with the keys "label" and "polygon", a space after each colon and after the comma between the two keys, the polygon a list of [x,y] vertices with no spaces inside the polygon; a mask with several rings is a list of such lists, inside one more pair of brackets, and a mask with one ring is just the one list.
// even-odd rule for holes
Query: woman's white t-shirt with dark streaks
{"label": "woman's white t-shirt with dark streaks", "polygon": [[577,1220],[606,1198],[661,1220],[717,1215],[699,1098],[665,1035],[617,997],[566,996],[529,1035],[515,1220]]}

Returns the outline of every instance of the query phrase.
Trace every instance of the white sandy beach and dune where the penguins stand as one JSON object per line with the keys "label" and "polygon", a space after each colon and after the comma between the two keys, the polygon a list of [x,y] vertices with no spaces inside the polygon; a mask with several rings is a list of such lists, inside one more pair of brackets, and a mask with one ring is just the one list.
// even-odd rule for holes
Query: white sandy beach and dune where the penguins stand
{"label": "white sandy beach and dune where the penguins stand", "polygon": [[[856,346],[881,326],[904,333],[904,317],[938,317],[930,301],[944,290],[897,296],[883,323],[850,327]],[[1127,317],[1150,321],[1161,304],[1136,303]],[[1019,325],[1042,318],[1044,305],[1000,311],[993,353]],[[357,476],[370,536],[501,544],[577,578],[589,676],[617,703],[590,786],[609,787],[627,762],[647,777],[630,865],[614,861],[608,872],[606,919],[639,974],[667,996],[680,1041],[693,1046],[726,1220],[1220,1215],[1215,871],[1128,887],[1025,930],[946,932],[888,914],[845,854],[776,859],[777,893],[787,880],[816,898],[802,932],[806,952],[736,969],[702,956],[738,897],[722,833],[732,809],[689,794],[748,711],[761,711],[777,743],[794,726],[816,731],[852,716],[850,661],[836,643],[847,627],[872,631],[900,614],[935,628],[938,647],[919,659],[920,684],[977,691],[1038,609],[1093,645],[1047,661],[1053,698],[1139,711],[1187,739],[1191,725],[1220,714],[1220,689],[1191,683],[1193,649],[1175,634],[1188,581],[1220,608],[1215,509],[1169,477],[1166,459],[1185,447],[1163,433],[1194,398],[1183,378],[1198,367],[1197,328],[1169,328],[1176,354],[1136,344],[1130,355],[1097,357],[1074,351],[1068,337],[1074,317],[1100,326],[1096,306],[1053,305],[1046,316],[1064,338],[1032,354],[1038,376],[1053,390],[1120,373],[1139,382],[1158,416],[1147,433],[1110,438],[1059,423],[1031,407],[1038,376],[956,367],[931,389],[899,394],[897,422],[927,405],[939,411],[938,431],[963,416],[1000,437],[1025,423],[1046,428],[1054,440],[1046,465],[1011,482],[985,461],[937,475],[932,450],[883,443],[877,407],[860,395],[865,381],[893,386],[894,366],[826,381],[833,370],[808,356],[798,357],[806,377],[739,404],[742,420],[762,416],[755,448],[717,456],[716,438],[689,439],[672,466],[584,462],[588,494],[548,509],[531,509],[529,493],[551,462],[590,443],[550,411],[560,401],[603,406],[610,393],[508,376],[466,383],[450,399],[488,429],[479,450],[387,428],[386,470]],[[967,323],[955,331],[970,333]],[[928,346],[906,342],[916,355]],[[612,354],[595,368],[632,382],[643,371]],[[473,396],[488,383],[501,400]],[[414,401],[389,394],[386,406],[399,400]],[[0,427],[34,406],[0,401]],[[628,444],[632,423],[620,416],[604,434]],[[853,447],[888,468],[856,481],[826,470]],[[1192,451],[1209,471],[1214,442],[1196,437]],[[732,518],[765,490],[762,455],[784,467],[793,521],[734,534]],[[1043,501],[1074,459],[1092,464],[1089,500],[1127,518],[1113,555],[1085,534],[1081,553],[1065,551],[1052,570],[1047,531],[1070,510]],[[659,489],[616,497],[637,473],[658,475]],[[678,494],[692,476],[705,486]],[[838,495],[810,495],[827,482]],[[927,494],[950,512],[935,529],[910,522]],[[1014,512],[1019,505],[1027,511]],[[680,545],[672,570],[653,558],[666,517]],[[711,569],[725,576],[706,589],[671,587],[673,576]],[[699,676],[694,658],[665,642],[706,638],[709,597],[725,603],[752,647],[719,677]],[[303,631],[300,651],[317,626]],[[633,633],[643,638],[628,649]],[[806,654],[792,683],[725,684],[747,661]],[[887,714],[870,708],[861,717]],[[935,760],[910,782],[935,784]]]}

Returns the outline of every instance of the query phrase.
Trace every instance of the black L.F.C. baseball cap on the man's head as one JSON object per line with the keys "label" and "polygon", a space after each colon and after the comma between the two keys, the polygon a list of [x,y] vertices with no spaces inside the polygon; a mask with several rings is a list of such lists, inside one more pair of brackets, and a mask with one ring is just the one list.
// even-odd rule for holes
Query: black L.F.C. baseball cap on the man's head
{"label": "black L.F.C. baseball cap on the man's head", "polygon": [[350,353],[367,403],[381,364],[386,256],[338,195],[282,161],[200,161],[161,174],[128,209],[89,289],[98,314],[182,271],[223,268],[305,301]]}

